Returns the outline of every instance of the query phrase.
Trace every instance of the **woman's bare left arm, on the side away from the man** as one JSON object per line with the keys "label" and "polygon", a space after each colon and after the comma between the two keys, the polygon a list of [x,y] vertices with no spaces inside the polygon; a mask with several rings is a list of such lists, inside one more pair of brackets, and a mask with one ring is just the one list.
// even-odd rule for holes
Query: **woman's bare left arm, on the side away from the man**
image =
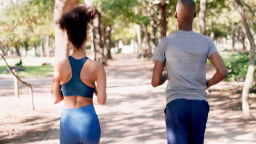
{"label": "woman's bare left arm, on the side away from the man", "polygon": [[54,70],[53,85],[51,87],[51,95],[52,95],[54,104],[60,103],[60,101],[64,99],[61,92],[60,74],[58,70],[58,65],[56,65]]}

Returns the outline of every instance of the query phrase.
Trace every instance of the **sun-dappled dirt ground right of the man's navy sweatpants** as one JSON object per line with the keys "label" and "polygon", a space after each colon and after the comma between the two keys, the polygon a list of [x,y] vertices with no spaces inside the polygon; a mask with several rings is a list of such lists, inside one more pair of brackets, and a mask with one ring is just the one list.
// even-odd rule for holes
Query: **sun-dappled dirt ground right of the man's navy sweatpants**
{"label": "sun-dappled dirt ground right of the man's navy sweatpants", "polygon": [[236,82],[220,82],[209,89],[210,113],[205,133],[206,144],[255,143],[256,115],[251,110],[251,119],[241,118],[241,94],[237,93],[237,87]]}

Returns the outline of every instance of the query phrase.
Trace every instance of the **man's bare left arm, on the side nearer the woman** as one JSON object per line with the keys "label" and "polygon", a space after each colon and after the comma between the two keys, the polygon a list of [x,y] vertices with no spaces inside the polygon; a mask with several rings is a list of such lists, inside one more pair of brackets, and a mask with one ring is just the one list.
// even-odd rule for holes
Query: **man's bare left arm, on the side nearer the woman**
{"label": "man's bare left arm, on the side nearer the woman", "polygon": [[153,75],[152,75],[152,82],[151,82],[151,85],[153,87],[162,85],[168,79],[167,73],[162,74],[164,67],[165,67],[165,63],[160,61],[155,61],[155,66],[154,66]]}

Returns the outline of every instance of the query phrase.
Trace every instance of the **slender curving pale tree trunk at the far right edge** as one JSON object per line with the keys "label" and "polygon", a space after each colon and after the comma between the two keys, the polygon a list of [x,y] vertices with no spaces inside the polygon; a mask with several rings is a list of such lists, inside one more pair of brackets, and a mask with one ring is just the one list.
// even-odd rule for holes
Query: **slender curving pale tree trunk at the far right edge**
{"label": "slender curving pale tree trunk at the far right edge", "polygon": [[248,71],[246,74],[246,79],[245,79],[245,85],[243,86],[243,92],[242,92],[242,109],[243,109],[243,118],[245,119],[249,119],[250,118],[250,107],[249,107],[249,89],[251,86],[251,83],[253,81],[253,75],[254,75],[254,65],[255,65],[255,42],[254,42],[254,38],[253,35],[249,29],[248,23],[247,23],[247,19],[246,19],[246,15],[245,15],[245,10],[243,9],[243,4],[241,3],[240,0],[235,0],[237,7],[238,7],[238,11],[241,15],[241,22],[243,25],[243,32],[245,33],[246,37],[248,38],[248,40],[250,41],[250,46],[251,46],[251,50],[250,50],[250,58],[249,58],[249,67],[248,67]]}

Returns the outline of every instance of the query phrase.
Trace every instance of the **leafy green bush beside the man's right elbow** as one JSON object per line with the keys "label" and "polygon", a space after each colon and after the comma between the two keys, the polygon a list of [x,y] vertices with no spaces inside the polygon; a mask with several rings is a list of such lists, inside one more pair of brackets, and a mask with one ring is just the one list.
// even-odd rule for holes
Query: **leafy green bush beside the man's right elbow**
{"label": "leafy green bush beside the man's right elbow", "polygon": [[[231,70],[229,73],[227,80],[244,80],[246,78],[248,65],[249,65],[249,53],[240,53],[239,55],[233,55],[233,57],[237,57],[236,61],[228,62],[227,68]],[[255,59],[256,62],[256,59]],[[256,67],[255,67],[256,68]],[[256,79],[256,71],[254,71],[254,80]]]}

